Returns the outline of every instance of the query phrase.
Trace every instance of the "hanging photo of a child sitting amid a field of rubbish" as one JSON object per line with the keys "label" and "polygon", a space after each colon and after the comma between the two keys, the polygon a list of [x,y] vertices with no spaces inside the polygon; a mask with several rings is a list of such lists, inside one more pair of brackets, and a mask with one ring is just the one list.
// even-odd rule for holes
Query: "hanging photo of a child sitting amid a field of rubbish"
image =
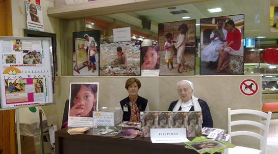
{"label": "hanging photo of a child sitting amid a field of rubbish", "polygon": [[99,76],[141,75],[140,48],[137,41],[101,43]]}

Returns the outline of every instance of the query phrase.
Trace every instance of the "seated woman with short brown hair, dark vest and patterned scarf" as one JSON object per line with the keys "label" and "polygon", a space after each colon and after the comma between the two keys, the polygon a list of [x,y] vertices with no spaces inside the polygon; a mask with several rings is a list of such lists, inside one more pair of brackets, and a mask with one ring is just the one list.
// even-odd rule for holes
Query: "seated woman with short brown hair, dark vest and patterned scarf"
{"label": "seated woman with short brown hair, dark vest and patterned scarf", "polygon": [[140,112],[149,111],[148,100],[138,96],[140,87],[141,82],[137,78],[129,78],[125,82],[129,96],[120,101],[123,121],[140,122]]}

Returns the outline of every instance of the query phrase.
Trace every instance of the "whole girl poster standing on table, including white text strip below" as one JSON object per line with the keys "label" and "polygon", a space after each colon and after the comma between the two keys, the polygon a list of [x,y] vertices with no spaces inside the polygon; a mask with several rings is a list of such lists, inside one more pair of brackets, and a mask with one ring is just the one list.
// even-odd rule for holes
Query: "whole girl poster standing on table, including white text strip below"
{"label": "whole girl poster standing on table, including white text strip below", "polygon": [[70,83],[69,127],[93,127],[93,111],[98,108],[98,87],[98,82]]}

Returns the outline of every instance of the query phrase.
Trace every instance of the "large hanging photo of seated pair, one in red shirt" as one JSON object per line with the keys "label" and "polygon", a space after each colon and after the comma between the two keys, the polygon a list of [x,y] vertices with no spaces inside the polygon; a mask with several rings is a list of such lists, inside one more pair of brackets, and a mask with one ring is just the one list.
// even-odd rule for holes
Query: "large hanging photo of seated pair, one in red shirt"
{"label": "large hanging photo of seated pair, one in red shirt", "polygon": [[200,40],[200,75],[244,74],[243,14],[200,19]]}

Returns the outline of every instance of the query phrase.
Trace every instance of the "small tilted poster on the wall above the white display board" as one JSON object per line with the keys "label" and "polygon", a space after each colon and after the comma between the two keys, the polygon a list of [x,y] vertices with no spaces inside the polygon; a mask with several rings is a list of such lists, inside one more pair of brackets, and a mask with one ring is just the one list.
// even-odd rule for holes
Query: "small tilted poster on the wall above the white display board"
{"label": "small tilted poster on the wall above the white display board", "polygon": [[38,4],[25,1],[28,29],[44,32],[42,7]]}

